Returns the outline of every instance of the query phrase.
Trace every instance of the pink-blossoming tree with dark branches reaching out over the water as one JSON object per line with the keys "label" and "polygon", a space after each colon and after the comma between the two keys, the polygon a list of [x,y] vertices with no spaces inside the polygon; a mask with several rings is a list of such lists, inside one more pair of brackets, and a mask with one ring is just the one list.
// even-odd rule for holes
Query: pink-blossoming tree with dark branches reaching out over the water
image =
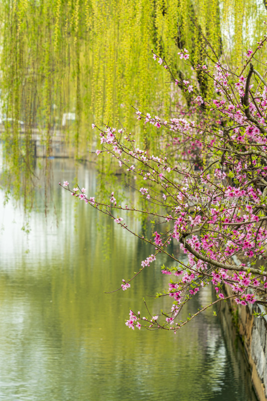
{"label": "pink-blossoming tree with dark branches reaching out over the water", "polygon": [[[260,42],[259,50],[265,41]],[[173,260],[174,266],[162,267],[162,273],[170,278],[168,287],[156,295],[171,298],[169,310],[152,318],[141,318],[140,312],[131,310],[126,322],[129,328],[140,329],[143,325],[176,332],[200,313],[184,322],[177,319],[182,307],[208,285],[214,287],[217,298],[202,310],[228,298],[243,306],[267,303],[267,85],[249,64],[254,53],[247,52],[247,62],[238,76],[219,60],[213,75],[206,65],[194,66],[213,80],[210,99],[199,92],[191,77],[178,80],[171,75],[181,91],[190,96],[187,116],[183,108],[180,115],[167,119],[136,110],[137,119],[144,125],[151,124],[156,132],[164,128],[169,153],[168,146],[159,149],[158,154],[137,147],[134,135],[124,129],[99,129],[102,150],[97,150],[97,155],[109,154],[129,177],[145,181],[145,186],[136,188],[146,203],[143,209],[117,205],[114,191],[109,202],[97,202],[86,195],[85,188],[70,189],[69,182],[64,181],[63,186],[73,196],[153,245],[154,254],[141,262],[139,272],[130,280],[147,269],[158,253]],[[178,55],[185,61],[189,59],[186,49]],[[163,58],[154,52],[153,58],[170,72]],[[254,75],[259,82],[256,87]],[[160,232],[153,230],[150,238],[132,231],[119,215],[114,216],[112,212],[117,210],[149,216],[160,224]],[[179,254],[169,251],[171,243],[173,248],[180,248]],[[123,291],[130,288],[130,280],[123,280]],[[227,288],[231,295],[226,296]]]}

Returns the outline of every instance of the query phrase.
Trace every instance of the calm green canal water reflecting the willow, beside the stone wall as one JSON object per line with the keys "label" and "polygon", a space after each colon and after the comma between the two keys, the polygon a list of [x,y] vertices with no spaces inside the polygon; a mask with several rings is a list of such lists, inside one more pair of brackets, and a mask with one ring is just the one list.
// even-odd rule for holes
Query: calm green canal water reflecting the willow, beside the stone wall
{"label": "calm green canal water reflecting the willow, beside the stone wall", "polygon": [[[51,190],[40,179],[29,226],[20,203],[0,206],[0,400],[256,401],[238,339],[227,345],[212,310],[176,335],[125,326],[130,308],[145,314],[143,297],[153,313],[161,308],[149,295],[167,285],[160,263],[168,261],[105,294],[153,250],[58,185],[78,174],[94,196],[92,165],[50,163]],[[212,297],[201,291],[183,318]]]}

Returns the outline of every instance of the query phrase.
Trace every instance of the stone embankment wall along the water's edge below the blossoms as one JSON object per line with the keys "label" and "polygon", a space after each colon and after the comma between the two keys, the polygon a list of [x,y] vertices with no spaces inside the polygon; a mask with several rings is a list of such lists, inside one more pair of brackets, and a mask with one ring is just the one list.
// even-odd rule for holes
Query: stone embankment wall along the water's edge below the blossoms
{"label": "stone embankment wall along the water's edge below the blossoms", "polygon": [[[227,287],[225,292],[231,295]],[[256,395],[259,401],[267,401],[267,316],[253,316],[253,311],[266,313],[266,309],[256,304],[237,305],[234,298],[230,298],[230,306],[249,363]]]}

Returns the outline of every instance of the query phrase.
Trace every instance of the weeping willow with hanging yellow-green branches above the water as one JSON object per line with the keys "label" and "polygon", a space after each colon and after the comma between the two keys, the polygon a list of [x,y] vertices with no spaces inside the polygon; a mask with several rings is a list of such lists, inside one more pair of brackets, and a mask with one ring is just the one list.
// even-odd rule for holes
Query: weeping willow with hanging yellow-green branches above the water
{"label": "weeping willow with hanging yellow-green branches above the water", "polygon": [[86,158],[92,122],[117,126],[120,119],[156,146],[151,126],[135,127],[131,105],[169,113],[177,98],[151,49],[207,92],[209,83],[182,67],[177,50],[206,63],[200,29],[217,54],[238,64],[262,34],[266,7],[265,0],[2,0],[2,182],[17,196],[29,192],[37,138],[46,156],[60,137]]}

